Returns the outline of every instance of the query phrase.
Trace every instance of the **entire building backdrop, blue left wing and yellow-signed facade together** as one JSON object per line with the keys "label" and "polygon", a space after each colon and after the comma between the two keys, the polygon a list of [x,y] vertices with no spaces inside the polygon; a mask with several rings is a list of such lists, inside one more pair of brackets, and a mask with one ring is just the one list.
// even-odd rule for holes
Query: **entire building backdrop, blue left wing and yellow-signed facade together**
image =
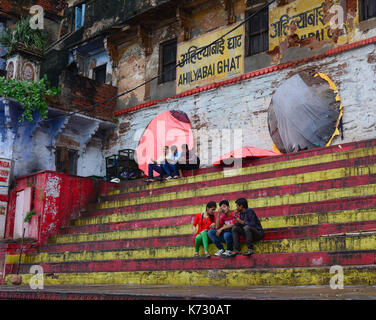
{"label": "entire building backdrop, blue left wing and yellow-signed facade together", "polygon": [[188,116],[203,167],[236,147],[271,150],[273,95],[297,74],[312,84],[323,75],[341,104],[330,143],[374,138],[372,0],[61,5],[40,66],[62,89],[49,101],[50,122],[19,127],[22,106],[0,104],[0,158],[16,177],[40,170],[103,177],[106,157],[136,150],[147,125],[171,110]]}

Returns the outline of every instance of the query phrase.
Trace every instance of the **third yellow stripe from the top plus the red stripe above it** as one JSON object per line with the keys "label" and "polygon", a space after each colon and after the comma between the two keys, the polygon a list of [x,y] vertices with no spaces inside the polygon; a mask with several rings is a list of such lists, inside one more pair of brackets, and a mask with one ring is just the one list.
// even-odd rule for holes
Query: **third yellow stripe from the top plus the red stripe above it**
{"label": "third yellow stripe from the top plus the red stripe above it", "polygon": [[[334,199],[345,199],[354,197],[372,196],[376,192],[376,175],[366,174],[362,176],[348,177],[342,179],[325,180],[319,182],[302,183],[281,187],[271,187],[261,190],[244,190],[239,192],[228,192],[213,196],[202,196],[195,198],[184,198],[141,205],[120,206],[120,203],[110,205],[103,204],[103,209],[91,212],[86,218],[106,216],[113,214],[137,213],[143,215],[143,219],[157,218],[161,215],[169,216],[194,214],[202,212],[209,201],[219,202],[223,199],[230,201],[230,207],[235,207],[235,200],[244,197],[248,200],[248,206],[255,209],[293,205],[299,203],[312,204],[318,201]],[[86,220],[87,221],[87,220]],[[95,221],[97,221],[95,219]]]}

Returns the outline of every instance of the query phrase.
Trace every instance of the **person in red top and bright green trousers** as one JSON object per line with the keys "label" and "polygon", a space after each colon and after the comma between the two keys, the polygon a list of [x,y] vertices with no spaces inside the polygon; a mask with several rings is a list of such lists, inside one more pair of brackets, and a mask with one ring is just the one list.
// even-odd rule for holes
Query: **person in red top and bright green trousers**
{"label": "person in red top and bright green trousers", "polygon": [[192,233],[195,241],[195,257],[199,257],[198,252],[200,246],[203,245],[205,257],[210,258],[208,230],[215,227],[214,212],[216,208],[217,204],[214,201],[210,201],[206,205],[205,212],[198,213],[193,221]]}

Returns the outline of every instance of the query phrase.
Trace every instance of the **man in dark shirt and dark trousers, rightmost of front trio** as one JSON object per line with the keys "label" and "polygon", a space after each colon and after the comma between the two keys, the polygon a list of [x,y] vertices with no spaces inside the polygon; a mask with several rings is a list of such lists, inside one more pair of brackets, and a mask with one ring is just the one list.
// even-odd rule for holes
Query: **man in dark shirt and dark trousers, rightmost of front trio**
{"label": "man in dark shirt and dark trousers, rightmost of front trio", "polygon": [[249,256],[253,254],[253,243],[264,237],[264,230],[256,213],[248,208],[248,202],[246,199],[240,198],[236,200],[235,203],[236,211],[233,220],[235,225],[231,230],[235,250],[231,253],[231,256],[240,254],[239,235],[246,239],[248,250],[244,255]]}

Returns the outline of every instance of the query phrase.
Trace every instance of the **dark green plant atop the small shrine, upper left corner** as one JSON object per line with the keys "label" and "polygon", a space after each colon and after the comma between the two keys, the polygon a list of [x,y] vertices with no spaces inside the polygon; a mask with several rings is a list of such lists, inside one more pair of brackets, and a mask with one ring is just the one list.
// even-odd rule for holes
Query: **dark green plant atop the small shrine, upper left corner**
{"label": "dark green plant atop the small shrine, upper left corner", "polygon": [[7,28],[3,31],[0,43],[7,47],[7,56],[11,56],[20,46],[43,55],[47,46],[47,36],[42,30],[30,27],[30,18],[22,18],[13,30]]}

